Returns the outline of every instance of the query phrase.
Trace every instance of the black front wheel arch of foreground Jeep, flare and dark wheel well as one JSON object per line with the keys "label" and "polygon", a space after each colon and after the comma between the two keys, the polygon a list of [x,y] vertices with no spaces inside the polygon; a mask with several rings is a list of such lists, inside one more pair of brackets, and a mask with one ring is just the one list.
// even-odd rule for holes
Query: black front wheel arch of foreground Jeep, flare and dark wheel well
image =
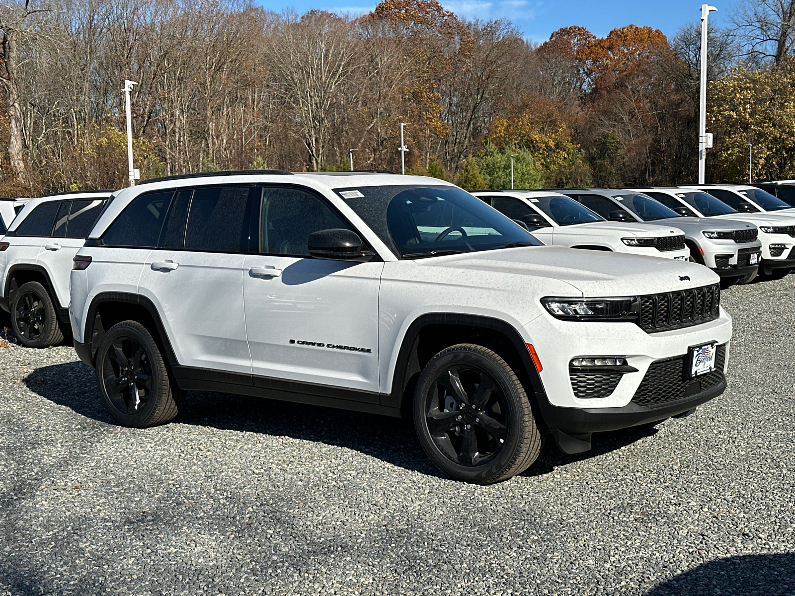
{"label": "black front wheel arch of foreground Jeep, flare and dark wheel well", "polygon": [[414,387],[425,364],[440,350],[456,343],[478,343],[505,358],[525,385],[533,403],[546,400],[533,359],[522,335],[510,323],[482,315],[430,313],[419,316],[403,336],[394,366],[392,387],[382,405],[410,408]]}

